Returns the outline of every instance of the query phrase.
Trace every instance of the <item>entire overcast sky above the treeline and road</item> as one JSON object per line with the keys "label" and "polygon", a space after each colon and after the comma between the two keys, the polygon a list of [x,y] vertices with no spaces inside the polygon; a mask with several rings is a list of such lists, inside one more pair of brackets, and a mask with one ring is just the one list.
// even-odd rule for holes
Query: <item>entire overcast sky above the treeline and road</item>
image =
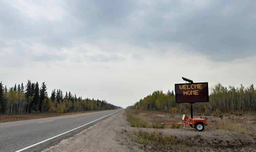
{"label": "entire overcast sky above the treeline and road", "polygon": [[123,108],[155,90],[256,78],[256,1],[0,0],[0,81]]}

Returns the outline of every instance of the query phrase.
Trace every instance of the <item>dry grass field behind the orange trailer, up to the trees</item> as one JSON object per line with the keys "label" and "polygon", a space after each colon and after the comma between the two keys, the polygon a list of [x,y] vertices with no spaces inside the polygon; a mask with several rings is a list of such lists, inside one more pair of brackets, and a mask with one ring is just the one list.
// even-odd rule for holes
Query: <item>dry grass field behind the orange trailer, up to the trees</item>
{"label": "dry grass field behind the orange trailer, up to the trees", "polygon": [[[182,114],[177,113],[165,113],[158,111],[146,111],[146,110],[125,110],[127,121],[131,127],[140,128],[181,128],[180,125],[161,125],[163,122],[182,122]],[[205,115],[201,115],[205,117]],[[195,118],[201,117],[200,115],[194,115]],[[211,124],[205,127],[205,129],[224,129],[229,131],[235,131],[250,136],[256,136],[256,116],[252,115],[234,115],[226,114],[222,117],[207,116],[207,121]],[[192,129],[189,126],[185,126],[186,129]]]}

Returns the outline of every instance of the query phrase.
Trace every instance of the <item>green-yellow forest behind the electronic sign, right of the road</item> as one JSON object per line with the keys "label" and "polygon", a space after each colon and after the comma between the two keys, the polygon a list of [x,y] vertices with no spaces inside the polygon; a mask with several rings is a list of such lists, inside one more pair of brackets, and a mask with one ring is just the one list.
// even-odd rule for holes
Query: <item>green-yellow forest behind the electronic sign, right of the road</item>
{"label": "green-yellow forest behind the electronic sign, right of the road", "polygon": [[[163,93],[162,90],[154,91],[147,97],[140,99],[129,109],[157,110],[165,112],[189,113],[188,103],[175,103],[174,91]],[[237,113],[237,112],[256,112],[256,88],[253,84],[244,87],[234,86],[224,87],[216,84],[209,88],[209,102],[193,104],[193,110],[198,113]]]}

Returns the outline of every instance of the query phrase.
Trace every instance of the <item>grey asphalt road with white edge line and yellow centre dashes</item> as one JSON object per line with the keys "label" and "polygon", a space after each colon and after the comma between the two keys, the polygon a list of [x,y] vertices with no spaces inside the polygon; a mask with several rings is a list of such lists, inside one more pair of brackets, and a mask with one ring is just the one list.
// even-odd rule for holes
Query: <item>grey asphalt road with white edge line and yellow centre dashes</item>
{"label": "grey asphalt road with white edge line and yellow centre dashes", "polygon": [[[0,151],[18,151],[64,132],[73,131],[32,146],[24,151],[41,151],[107,118],[119,110],[0,123]],[[107,117],[105,117],[107,116]],[[102,118],[104,117],[104,118]],[[102,119],[100,119],[102,118]],[[99,120],[97,120],[99,119]],[[96,121],[95,121],[96,120]],[[94,121],[94,122],[93,122]],[[90,124],[88,124],[90,123]]]}

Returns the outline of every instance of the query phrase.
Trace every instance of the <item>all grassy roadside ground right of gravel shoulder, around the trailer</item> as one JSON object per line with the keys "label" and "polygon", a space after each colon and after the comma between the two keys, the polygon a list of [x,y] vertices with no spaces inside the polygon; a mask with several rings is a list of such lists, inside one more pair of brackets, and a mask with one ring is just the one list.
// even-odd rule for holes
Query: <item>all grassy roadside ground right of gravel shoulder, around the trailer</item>
{"label": "all grassy roadside ground right of gravel shoulder, around the trailer", "polygon": [[[202,149],[204,146],[215,149],[230,148],[230,150],[232,150],[237,149],[241,145],[248,146],[251,144],[247,141],[244,142],[244,140],[241,140],[239,137],[222,139],[218,134],[216,134],[216,136],[212,136],[211,134],[214,130],[218,129],[223,130],[221,131],[222,133],[225,133],[225,130],[237,132],[235,133],[237,136],[239,136],[239,133],[242,133],[245,134],[245,136],[250,136],[256,140],[256,127],[255,125],[252,125],[253,123],[256,123],[255,114],[240,115],[219,112],[212,113],[207,116],[208,122],[210,122],[211,125],[206,126],[203,131],[210,131],[206,133],[209,136],[204,137],[202,135],[197,135],[198,131],[189,126],[185,126],[186,131],[194,132],[195,134],[188,136],[185,135],[188,138],[178,138],[178,136],[182,135],[181,132],[184,131],[183,126],[160,124],[162,122],[181,122],[182,114],[179,112],[167,113],[160,111],[125,109],[125,115],[129,125],[134,128],[130,129],[130,136],[132,140],[142,144],[143,149],[146,151],[190,151],[191,147]],[[195,114],[194,117],[200,116],[204,117],[205,115]],[[177,134],[174,135],[172,133],[168,133],[168,129],[175,129],[172,131],[180,133],[177,136]],[[216,137],[219,137],[220,139]],[[207,138],[208,141],[206,141],[205,138]],[[236,140],[239,140],[240,143],[234,143]],[[188,147],[190,147],[190,149],[188,149]]]}

